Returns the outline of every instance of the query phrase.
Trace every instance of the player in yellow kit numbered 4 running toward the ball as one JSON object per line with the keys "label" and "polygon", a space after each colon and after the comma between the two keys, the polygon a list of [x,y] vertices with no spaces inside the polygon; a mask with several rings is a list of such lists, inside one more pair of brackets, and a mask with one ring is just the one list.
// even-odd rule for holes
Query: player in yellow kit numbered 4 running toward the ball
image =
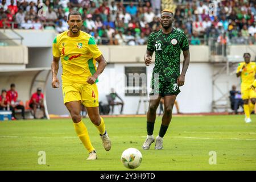
{"label": "player in yellow kit numbered 4 running toward the ball", "polygon": [[57,72],[61,58],[64,104],[71,114],[77,136],[89,152],[87,160],[95,160],[97,154],[90,142],[88,130],[82,122],[80,107],[81,104],[85,105],[90,121],[100,133],[105,150],[109,151],[111,141],[106,133],[104,120],[100,117],[96,85],[98,76],[106,67],[106,60],[93,37],[80,30],[82,15],[79,11],[69,13],[68,25],[69,30],[57,35],[53,40],[52,87],[59,88],[60,85]]}

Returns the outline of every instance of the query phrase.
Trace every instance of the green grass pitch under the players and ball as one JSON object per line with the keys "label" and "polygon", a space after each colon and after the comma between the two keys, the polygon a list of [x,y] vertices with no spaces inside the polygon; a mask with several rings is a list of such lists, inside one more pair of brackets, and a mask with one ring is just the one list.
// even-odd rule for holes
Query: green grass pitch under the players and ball
{"label": "green grass pitch under the players and ball", "polygon": [[[106,152],[98,131],[83,119],[98,159],[86,161],[88,152],[75,134],[71,119],[0,122],[0,170],[126,170],[122,152],[142,152],[142,164],[133,170],[255,170],[256,115],[245,123],[243,115],[174,117],[164,137],[163,150],[142,150],[146,118],[105,118],[112,149]],[[154,136],[161,118],[156,118]],[[46,152],[46,165],[38,152]],[[210,165],[209,151],[217,152]],[[129,170],[129,169],[128,169]]]}

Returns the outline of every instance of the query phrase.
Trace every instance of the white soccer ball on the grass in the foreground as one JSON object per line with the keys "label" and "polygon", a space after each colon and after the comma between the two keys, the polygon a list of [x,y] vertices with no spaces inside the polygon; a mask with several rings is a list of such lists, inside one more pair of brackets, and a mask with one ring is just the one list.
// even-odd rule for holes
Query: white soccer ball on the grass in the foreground
{"label": "white soccer ball on the grass in the foreground", "polygon": [[135,169],[141,165],[142,154],[136,148],[127,148],[123,151],[121,156],[121,162],[123,166],[129,169]]}

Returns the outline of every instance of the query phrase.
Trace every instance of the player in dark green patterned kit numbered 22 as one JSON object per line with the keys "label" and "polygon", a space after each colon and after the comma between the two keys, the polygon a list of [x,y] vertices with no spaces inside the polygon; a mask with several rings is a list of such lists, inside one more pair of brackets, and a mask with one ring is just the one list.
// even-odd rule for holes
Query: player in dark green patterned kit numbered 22
{"label": "player in dark green patterned kit numbered 22", "polygon": [[[172,27],[174,14],[170,10],[163,10],[160,23],[162,29],[153,32],[148,38],[147,51],[144,55],[146,66],[151,64],[152,55],[155,51],[155,67],[151,78],[150,104],[147,112],[147,139],[143,150],[148,150],[155,141],[153,136],[160,98],[164,97],[164,114],[162,125],[156,137],[155,149],[163,148],[163,137],[166,134],[172,118],[172,108],[180,93],[179,86],[184,85],[185,74],[189,65],[189,44],[187,36]],[[180,53],[183,51],[183,68],[180,74]]]}

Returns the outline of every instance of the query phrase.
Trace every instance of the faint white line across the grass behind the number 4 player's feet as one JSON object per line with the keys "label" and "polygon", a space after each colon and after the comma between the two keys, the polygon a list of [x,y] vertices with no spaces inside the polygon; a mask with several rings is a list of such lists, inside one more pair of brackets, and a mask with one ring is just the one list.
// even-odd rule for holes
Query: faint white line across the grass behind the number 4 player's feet
{"label": "faint white line across the grass behind the number 4 player's feet", "polygon": [[[140,138],[146,138],[145,136],[138,136]],[[126,138],[138,138],[136,136],[130,136],[130,137],[127,137]],[[58,137],[28,137],[28,136],[1,136],[0,135],[0,138],[58,138]],[[59,138],[77,138],[77,137],[59,137]],[[119,137],[119,136],[113,136],[112,138],[123,138],[123,137]],[[254,138],[209,138],[209,137],[164,137],[164,138],[185,138],[185,139],[207,139],[207,140],[210,140],[210,139],[213,139],[213,140],[216,140],[216,139],[220,139],[220,140],[256,140]]]}

